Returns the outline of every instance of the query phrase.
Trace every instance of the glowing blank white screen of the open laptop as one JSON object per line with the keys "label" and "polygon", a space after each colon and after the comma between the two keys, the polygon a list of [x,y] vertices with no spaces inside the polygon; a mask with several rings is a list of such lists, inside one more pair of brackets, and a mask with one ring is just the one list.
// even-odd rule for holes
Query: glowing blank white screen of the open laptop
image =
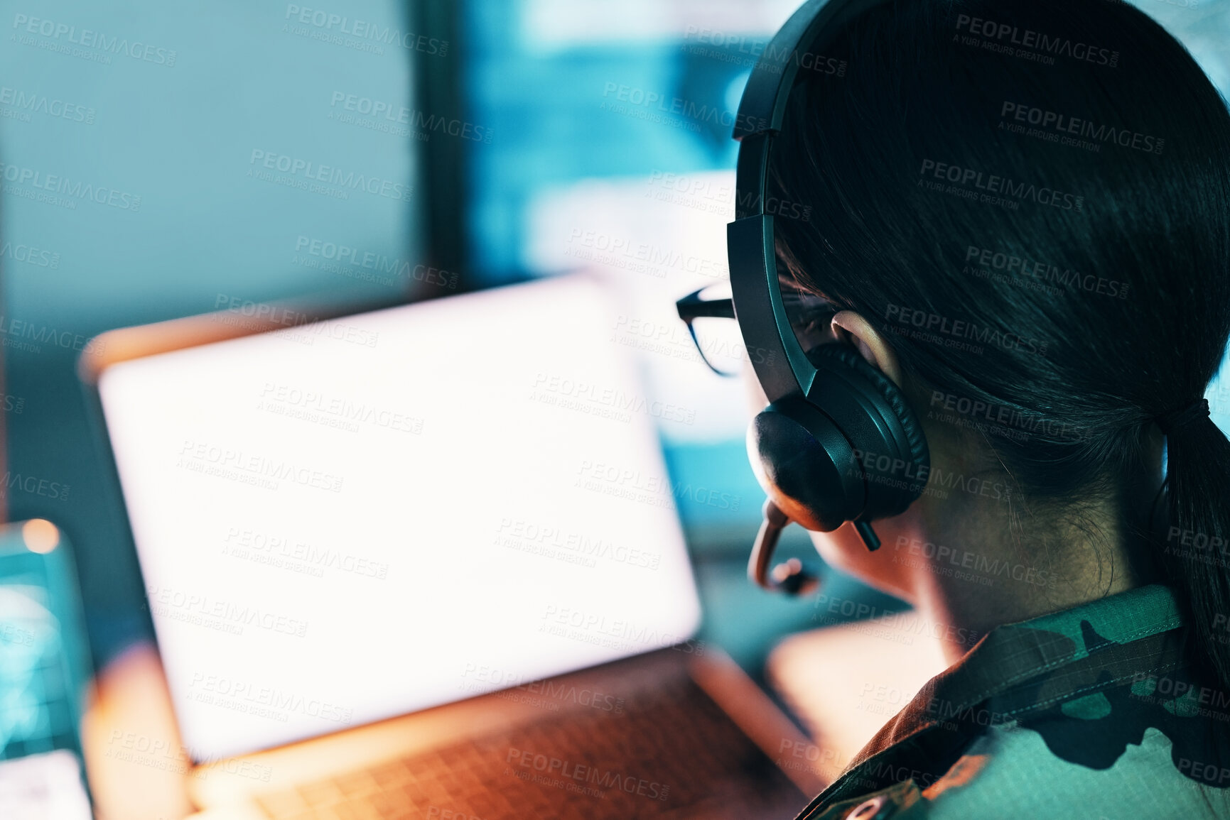
{"label": "glowing blank white screen of the open laptop", "polygon": [[109,366],[183,743],[244,754],[688,639],[654,417],[568,277]]}

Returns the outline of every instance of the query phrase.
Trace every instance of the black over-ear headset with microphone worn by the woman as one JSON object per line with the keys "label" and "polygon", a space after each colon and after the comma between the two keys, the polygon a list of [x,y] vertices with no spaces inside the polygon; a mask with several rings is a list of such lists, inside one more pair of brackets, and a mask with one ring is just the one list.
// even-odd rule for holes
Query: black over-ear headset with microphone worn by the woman
{"label": "black over-ear headset with microphone worn by the woman", "polygon": [[731,290],[739,331],[770,404],[748,428],[748,456],[769,499],[748,575],[765,589],[818,586],[792,558],[769,569],[791,521],[829,532],[854,521],[868,550],[871,522],[905,510],[926,484],[930,454],[918,417],[888,376],[849,344],[803,350],[777,279],[769,152],[801,65],[814,64],[843,25],[886,0],[808,0],[761,53],[734,124],[739,141],[734,221],[727,226]]}

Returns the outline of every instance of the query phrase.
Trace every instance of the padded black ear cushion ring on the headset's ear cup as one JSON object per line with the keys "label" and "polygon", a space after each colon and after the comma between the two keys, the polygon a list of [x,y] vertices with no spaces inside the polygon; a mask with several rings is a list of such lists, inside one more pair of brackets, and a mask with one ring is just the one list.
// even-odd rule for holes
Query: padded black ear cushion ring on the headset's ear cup
{"label": "padded black ear cushion ring on the headset's ear cup", "polygon": [[[919,422],[905,395],[892,379],[886,376],[875,365],[862,358],[852,345],[849,344],[823,344],[808,352],[808,359],[817,368],[836,370],[846,380],[859,380],[871,391],[883,400],[883,406],[888,409],[889,424],[898,425],[897,432],[891,432],[891,438],[903,441],[902,455],[909,461],[909,467],[900,471],[895,478],[908,478],[911,489],[907,492],[884,493],[877,492],[876,482],[868,482],[868,518],[886,518],[905,511],[905,508],[916,499],[926,483],[926,475],[931,465],[931,454],[927,449],[926,435],[922,433],[922,424]],[[814,400],[820,409],[825,409],[825,396],[818,395]],[[859,446],[859,443],[855,443]],[[897,447],[893,447],[897,449]],[[898,482],[900,483],[900,482]],[[918,492],[914,492],[914,491]]]}

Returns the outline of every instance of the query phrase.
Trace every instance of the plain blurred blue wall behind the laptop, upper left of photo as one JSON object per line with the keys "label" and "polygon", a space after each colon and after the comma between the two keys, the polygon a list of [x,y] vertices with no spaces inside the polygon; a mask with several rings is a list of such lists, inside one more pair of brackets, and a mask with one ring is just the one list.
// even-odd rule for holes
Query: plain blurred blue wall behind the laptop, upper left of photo
{"label": "plain blurred blue wall behind the laptop, upper left of photo", "polygon": [[[74,375],[84,341],[220,299],[392,296],[421,261],[401,109],[411,48],[433,45],[397,2],[305,7],[0,4],[7,503],[76,545],[102,656],[140,632],[141,597]],[[355,252],[322,264],[339,246]]]}

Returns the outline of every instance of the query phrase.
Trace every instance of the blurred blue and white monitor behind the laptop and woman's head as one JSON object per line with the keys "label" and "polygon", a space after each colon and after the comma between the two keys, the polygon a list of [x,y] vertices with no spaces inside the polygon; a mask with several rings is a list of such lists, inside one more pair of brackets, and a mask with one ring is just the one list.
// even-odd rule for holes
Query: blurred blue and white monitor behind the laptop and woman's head
{"label": "blurred blue and white monitor behind the laptop and woman's head", "polygon": [[[662,402],[672,492],[701,548],[747,548],[764,495],[744,451],[743,385],[705,366],[674,300],[728,278],[732,127],[752,66],[798,5],[465,4],[469,117],[491,135],[469,144],[470,267],[490,284],[583,268],[619,283],[610,332],[641,353]],[[1230,2],[1137,5],[1230,91]],[[1225,374],[1209,403],[1230,429]]]}

